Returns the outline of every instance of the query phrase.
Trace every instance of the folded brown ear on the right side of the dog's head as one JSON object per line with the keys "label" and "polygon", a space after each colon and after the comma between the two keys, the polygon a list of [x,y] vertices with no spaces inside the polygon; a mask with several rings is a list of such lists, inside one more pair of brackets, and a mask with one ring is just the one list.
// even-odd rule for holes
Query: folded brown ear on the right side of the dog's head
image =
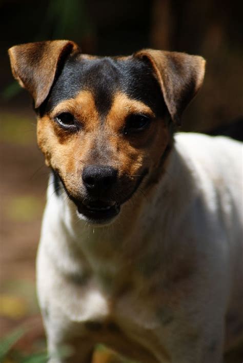
{"label": "folded brown ear on the right side of the dog's head", "polygon": [[206,61],[198,55],[153,49],[133,56],[151,64],[170,116],[180,125],[181,114],[202,85]]}

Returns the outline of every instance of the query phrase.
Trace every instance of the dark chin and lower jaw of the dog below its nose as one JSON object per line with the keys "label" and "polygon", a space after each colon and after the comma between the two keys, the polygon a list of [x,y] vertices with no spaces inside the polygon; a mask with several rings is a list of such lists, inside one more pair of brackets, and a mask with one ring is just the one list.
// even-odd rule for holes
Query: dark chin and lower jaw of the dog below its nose
{"label": "dark chin and lower jaw of the dog below its nose", "polygon": [[110,224],[120,213],[120,205],[116,202],[80,202],[74,200],[77,216],[89,224]]}

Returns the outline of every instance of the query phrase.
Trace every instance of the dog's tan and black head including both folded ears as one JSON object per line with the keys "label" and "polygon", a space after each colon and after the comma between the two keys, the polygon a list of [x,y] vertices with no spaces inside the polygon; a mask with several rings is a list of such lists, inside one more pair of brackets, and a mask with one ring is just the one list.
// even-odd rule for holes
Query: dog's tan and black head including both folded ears
{"label": "dog's tan and black head including both folded ears", "polygon": [[99,58],[70,41],[18,45],[9,55],[34,99],[46,163],[91,223],[111,221],[158,174],[205,69],[200,56],[145,49]]}

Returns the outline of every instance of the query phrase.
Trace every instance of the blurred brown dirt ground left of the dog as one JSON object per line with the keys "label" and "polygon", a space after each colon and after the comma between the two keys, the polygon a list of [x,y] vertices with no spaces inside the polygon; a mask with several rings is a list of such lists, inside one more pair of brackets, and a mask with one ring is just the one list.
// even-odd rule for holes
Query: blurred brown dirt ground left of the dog
{"label": "blurred brown dirt ground left of the dog", "polygon": [[35,255],[48,170],[35,142],[31,110],[2,107],[1,123],[1,254],[0,334],[28,324],[21,349],[44,346],[35,296]]}

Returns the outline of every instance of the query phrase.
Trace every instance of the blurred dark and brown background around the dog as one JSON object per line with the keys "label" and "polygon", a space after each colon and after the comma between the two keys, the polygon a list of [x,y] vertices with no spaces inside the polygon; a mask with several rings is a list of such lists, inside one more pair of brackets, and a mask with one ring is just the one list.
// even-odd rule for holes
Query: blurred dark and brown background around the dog
{"label": "blurred dark and brown background around the dog", "polygon": [[[97,55],[130,54],[145,47],[200,54],[207,60],[205,83],[186,110],[182,129],[219,131],[242,139],[242,10],[242,2],[222,0],[0,2],[0,336],[9,338],[14,332],[13,342],[22,335],[14,329],[28,326],[6,363],[24,361],[26,354],[45,348],[34,280],[48,179],[36,146],[32,102],[12,79],[7,49],[19,43],[69,39],[85,53]],[[2,350],[7,346],[5,339]],[[241,358],[231,355],[227,361],[237,363]]]}

